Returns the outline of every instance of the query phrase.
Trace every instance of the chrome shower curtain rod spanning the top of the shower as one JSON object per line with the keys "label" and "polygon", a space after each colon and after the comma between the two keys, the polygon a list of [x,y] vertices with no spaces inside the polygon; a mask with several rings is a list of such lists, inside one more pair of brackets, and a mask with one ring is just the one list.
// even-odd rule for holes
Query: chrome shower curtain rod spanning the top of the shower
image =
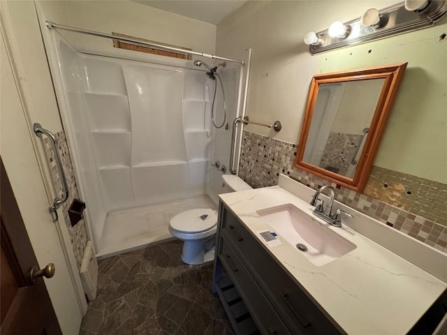
{"label": "chrome shower curtain rod spanning the top of the shower", "polygon": [[98,36],[98,37],[112,38],[114,40],[121,40],[126,43],[140,45],[143,47],[154,47],[156,49],[175,51],[175,52],[180,52],[182,54],[194,54],[196,56],[207,57],[207,58],[212,58],[212,59],[220,59],[221,61],[232,61],[234,63],[239,63],[241,65],[245,65],[245,61],[238,61],[237,59],[219,57],[219,56],[215,56],[214,54],[205,54],[205,52],[196,52],[196,51],[191,51],[191,50],[184,50],[179,47],[168,47],[166,45],[159,45],[156,43],[143,42],[142,40],[134,40],[133,38],[125,38],[125,37],[120,37],[120,36],[115,36],[115,35],[110,35],[110,34],[99,33],[98,31],[91,31],[91,30],[87,30],[87,29],[80,29],[80,28],[75,28],[75,27],[70,27],[70,26],[64,26],[64,24],[54,23],[51,21],[45,21],[45,24],[47,25],[48,29],[61,29],[61,30],[67,30],[67,31],[75,31],[76,33],[81,33],[81,34],[88,34],[88,35],[93,35],[93,36]]}

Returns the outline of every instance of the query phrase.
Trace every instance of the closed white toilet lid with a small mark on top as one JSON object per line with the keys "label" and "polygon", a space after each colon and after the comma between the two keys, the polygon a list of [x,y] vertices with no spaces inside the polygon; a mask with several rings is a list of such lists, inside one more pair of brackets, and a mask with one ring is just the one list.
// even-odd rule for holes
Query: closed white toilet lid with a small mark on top
{"label": "closed white toilet lid with a small mark on top", "polygon": [[[200,216],[206,215],[202,220]],[[205,232],[217,225],[217,213],[210,208],[189,209],[170,219],[170,226],[179,232]]]}

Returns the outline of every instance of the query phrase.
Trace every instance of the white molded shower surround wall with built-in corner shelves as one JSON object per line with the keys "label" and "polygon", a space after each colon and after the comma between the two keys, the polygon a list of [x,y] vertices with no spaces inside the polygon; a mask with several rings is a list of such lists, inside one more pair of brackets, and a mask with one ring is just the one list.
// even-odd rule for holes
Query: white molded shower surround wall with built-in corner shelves
{"label": "white molded shower surround wall with built-in corner shelves", "polygon": [[106,212],[204,195],[211,127],[203,71],[80,54],[59,42],[96,245]]}

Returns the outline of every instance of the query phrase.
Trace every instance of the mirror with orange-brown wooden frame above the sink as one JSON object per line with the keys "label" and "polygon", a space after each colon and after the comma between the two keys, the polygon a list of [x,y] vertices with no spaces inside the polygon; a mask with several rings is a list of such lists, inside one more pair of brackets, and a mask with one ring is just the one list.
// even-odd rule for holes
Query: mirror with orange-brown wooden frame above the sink
{"label": "mirror with orange-brown wooden frame above the sink", "polygon": [[295,167],[361,193],[406,64],[314,75]]}

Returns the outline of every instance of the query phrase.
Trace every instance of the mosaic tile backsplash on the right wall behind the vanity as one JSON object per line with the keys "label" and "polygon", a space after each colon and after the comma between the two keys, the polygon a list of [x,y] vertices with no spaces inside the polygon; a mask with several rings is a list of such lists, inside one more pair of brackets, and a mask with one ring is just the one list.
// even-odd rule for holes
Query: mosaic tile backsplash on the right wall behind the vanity
{"label": "mosaic tile backsplash on the right wall behind the vanity", "polygon": [[[332,184],[337,188],[336,199],[339,202],[447,253],[447,221],[445,218],[447,202],[446,198],[443,198],[446,197],[447,185],[433,184],[433,181],[427,181],[427,179],[420,180],[420,178],[408,174],[399,174],[374,167],[367,182],[365,194],[360,194],[294,168],[295,156],[296,146],[293,143],[244,131],[239,175],[254,188],[277,185],[279,173],[288,174],[293,179],[314,189]],[[406,184],[406,181],[411,182]],[[387,186],[383,186],[385,184]],[[392,191],[388,191],[388,186],[391,186],[390,190]],[[424,195],[422,191],[416,192],[416,190],[425,189],[426,186],[437,188],[437,191],[432,191],[439,195],[441,199],[439,202],[432,202],[431,198]],[[393,191],[393,188],[399,189],[400,192]],[[413,191],[405,191],[407,189]],[[400,197],[394,192],[400,193]],[[413,195],[413,198],[410,195]],[[416,195],[418,195],[417,198]],[[385,202],[391,202],[390,198],[394,199],[391,204]],[[422,211],[418,207],[420,202],[436,205],[437,208],[431,209],[431,212],[440,215],[429,218],[426,211],[428,207],[425,207],[423,213],[420,213]],[[411,212],[414,209],[417,209],[417,214]]]}

